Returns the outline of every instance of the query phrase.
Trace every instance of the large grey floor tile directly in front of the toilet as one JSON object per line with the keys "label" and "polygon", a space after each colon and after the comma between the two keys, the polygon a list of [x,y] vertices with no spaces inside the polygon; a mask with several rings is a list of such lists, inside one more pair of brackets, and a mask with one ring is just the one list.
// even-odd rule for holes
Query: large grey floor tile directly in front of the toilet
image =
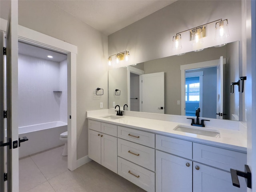
{"label": "large grey floor tile directly in front of the toilet", "polygon": [[68,170],[68,156],[62,156],[62,150],[58,147],[31,156],[47,180]]}

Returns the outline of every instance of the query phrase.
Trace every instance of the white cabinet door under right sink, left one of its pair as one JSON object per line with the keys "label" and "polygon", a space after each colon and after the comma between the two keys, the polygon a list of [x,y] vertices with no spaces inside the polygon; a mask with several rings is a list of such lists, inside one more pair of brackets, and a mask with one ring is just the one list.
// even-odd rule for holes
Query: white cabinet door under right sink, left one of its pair
{"label": "white cabinet door under right sink, left one of its pair", "polygon": [[192,161],[156,150],[156,192],[192,192]]}

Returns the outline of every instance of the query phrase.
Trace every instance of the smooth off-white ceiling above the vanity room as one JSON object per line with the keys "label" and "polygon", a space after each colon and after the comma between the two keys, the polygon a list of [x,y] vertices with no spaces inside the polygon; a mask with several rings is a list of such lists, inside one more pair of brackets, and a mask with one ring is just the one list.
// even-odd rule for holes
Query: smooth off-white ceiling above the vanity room
{"label": "smooth off-white ceiling above the vanity room", "polygon": [[[25,0],[19,0],[20,4]],[[48,0],[100,32],[110,35],[176,0]],[[1,18],[8,18],[9,0],[0,0]]]}

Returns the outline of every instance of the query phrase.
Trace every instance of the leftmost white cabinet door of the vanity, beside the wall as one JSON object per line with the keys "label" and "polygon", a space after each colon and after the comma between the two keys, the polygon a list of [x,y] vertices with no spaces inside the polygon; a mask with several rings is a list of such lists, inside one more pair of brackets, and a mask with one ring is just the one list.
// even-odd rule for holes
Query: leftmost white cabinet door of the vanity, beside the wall
{"label": "leftmost white cabinet door of the vanity, beside the wall", "polygon": [[88,130],[88,156],[99,164],[101,164],[100,135],[100,132]]}

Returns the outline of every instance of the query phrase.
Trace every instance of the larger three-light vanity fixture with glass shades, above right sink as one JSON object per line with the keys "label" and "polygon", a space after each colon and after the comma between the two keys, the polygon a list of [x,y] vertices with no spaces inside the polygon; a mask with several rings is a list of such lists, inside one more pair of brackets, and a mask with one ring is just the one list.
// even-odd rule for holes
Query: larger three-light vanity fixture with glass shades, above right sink
{"label": "larger three-light vanity fixture with glass shades, above right sink", "polygon": [[[206,36],[206,26],[213,22],[216,22],[215,40],[222,40],[229,36],[228,19],[225,19],[225,20],[218,19],[218,20],[176,33],[176,35],[172,37],[172,50],[180,50],[182,48],[181,34],[187,31],[190,31],[190,40],[192,41],[192,46],[196,48],[195,51],[203,50],[202,48],[200,48],[200,44],[204,42],[203,38]],[[224,45],[223,43],[220,44],[220,46],[223,46],[223,45]]]}

